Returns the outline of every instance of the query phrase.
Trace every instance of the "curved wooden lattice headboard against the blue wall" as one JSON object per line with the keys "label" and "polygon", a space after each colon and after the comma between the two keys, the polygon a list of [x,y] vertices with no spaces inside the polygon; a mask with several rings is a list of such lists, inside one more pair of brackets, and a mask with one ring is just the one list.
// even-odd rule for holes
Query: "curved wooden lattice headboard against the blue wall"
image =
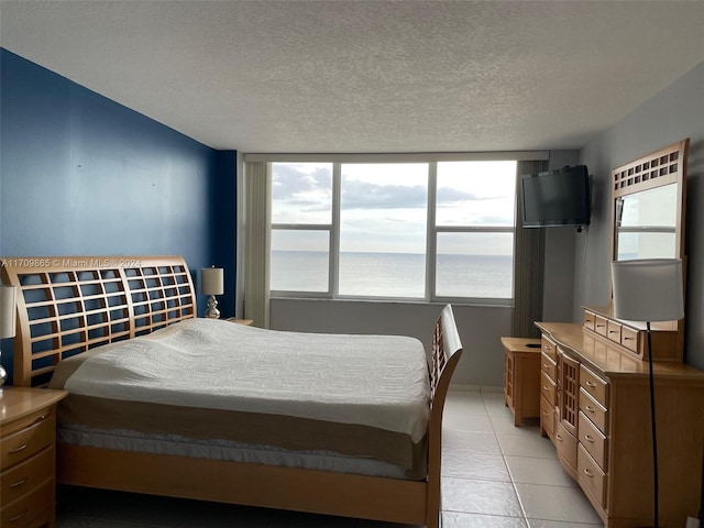
{"label": "curved wooden lattice headboard against the blue wall", "polygon": [[0,276],[16,286],[15,386],[42,386],[61,360],[196,317],[180,256],[12,256]]}

